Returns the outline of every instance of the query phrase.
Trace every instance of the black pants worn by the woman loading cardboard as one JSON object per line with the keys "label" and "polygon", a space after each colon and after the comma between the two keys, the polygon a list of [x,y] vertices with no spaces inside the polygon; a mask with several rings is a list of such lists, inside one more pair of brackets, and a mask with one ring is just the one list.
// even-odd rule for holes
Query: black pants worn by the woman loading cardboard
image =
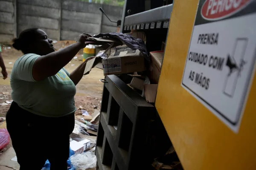
{"label": "black pants worn by the woman loading cardboard", "polygon": [[20,170],[41,170],[47,159],[51,170],[67,170],[74,114],[58,118],[38,116],[12,102],[6,124]]}

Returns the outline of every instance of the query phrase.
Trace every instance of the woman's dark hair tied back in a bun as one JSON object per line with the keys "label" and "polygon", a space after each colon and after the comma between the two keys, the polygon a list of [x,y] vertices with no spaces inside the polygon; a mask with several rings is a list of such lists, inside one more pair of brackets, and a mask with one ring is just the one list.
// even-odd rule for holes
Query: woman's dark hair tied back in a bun
{"label": "woman's dark hair tied back in a bun", "polygon": [[14,38],[12,40],[13,44],[12,46],[16,50],[21,50],[24,54],[29,53],[29,47],[28,45],[35,40],[37,33],[37,30],[39,28],[28,28],[24,31],[22,31],[18,38]]}

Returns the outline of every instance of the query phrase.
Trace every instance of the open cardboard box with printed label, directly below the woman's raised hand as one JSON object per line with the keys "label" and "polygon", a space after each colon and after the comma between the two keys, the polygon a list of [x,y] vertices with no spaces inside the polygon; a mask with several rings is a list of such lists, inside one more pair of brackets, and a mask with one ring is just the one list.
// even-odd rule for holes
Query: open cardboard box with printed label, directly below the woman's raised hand
{"label": "open cardboard box with printed label, directly below the woman's raised hand", "polygon": [[107,50],[100,51],[96,58],[87,62],[84,75],[94,67],[103,69],[104,76],[146,70],[145,59],[139,50],[132,50],[126,45]]}

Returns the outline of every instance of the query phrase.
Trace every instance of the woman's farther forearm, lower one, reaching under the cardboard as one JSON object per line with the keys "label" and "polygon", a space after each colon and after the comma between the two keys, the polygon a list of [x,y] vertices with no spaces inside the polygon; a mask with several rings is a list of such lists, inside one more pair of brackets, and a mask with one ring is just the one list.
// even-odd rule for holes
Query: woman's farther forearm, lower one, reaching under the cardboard
{"label": "woman's farther forearm, lower one, reaching under the cardboard", "polygon": [[86,66],[87,61],[89,61],[90,59],[92,59],[94,57],[88,57],[82,64],[80,64],[76,70],[74,70],[71,74],[70,74],[70,79],[73,81],[73,83],[75,85],[78,84],[78,82],[81,80],[81,78],[84,75],[84,69]]}

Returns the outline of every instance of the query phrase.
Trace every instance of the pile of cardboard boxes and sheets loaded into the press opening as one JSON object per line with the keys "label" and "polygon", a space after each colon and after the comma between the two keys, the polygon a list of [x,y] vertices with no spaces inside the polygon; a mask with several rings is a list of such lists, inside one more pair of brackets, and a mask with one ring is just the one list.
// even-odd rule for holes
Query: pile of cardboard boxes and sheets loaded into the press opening
{"label": "pile of cardboard boxes and sheets loaded into the press opening", "polygon": [[[146,40],[143,32],[132,32],[130,34],[136,38]],[[102,69],[105,76],[132,73],[129,86],[139,91],[146,101],[155,102],[164,51],[150,52],[150,70],[148,74],[141,76],[136,73],[146,71],[148,65],[145,65],[145,58],[139,50],[132,50],[116,38],[91,37],[88,41],[97,44],[102,43],[102,50],[99,51],[95,58],[87,62],[84,75],[89,74],[94,67]],[[163,42],[162,48],[164,46],[165,43]]]}

